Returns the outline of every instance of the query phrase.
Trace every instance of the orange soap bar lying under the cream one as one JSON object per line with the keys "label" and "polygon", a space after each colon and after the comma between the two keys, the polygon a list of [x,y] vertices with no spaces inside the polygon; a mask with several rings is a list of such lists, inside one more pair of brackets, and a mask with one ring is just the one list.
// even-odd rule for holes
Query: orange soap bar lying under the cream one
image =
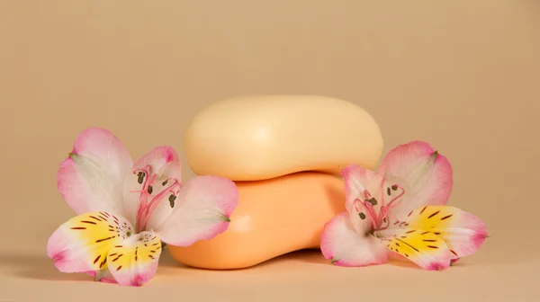
{"label": "orange soap bar lying under the cream one", "polygon": [[191,246],[168,245],[175,260],[203,269],[241,269],[319,248],[324,224],[345,211],[344,183],[330,174],[302,172],[236,184],[239,202],[229,229]]}

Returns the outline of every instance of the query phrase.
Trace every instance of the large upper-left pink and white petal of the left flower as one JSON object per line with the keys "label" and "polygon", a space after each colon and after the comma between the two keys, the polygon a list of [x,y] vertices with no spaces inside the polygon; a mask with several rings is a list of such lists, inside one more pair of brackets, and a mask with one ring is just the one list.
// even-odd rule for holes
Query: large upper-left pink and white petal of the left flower
{"label": "large upper-left pink and white petal of the left flower", "polygon": [[109,130],[85,129],[60,164],[58,191],[77,214],[96,210],[123,214],[122,187],[131,164],[126,147]]}

